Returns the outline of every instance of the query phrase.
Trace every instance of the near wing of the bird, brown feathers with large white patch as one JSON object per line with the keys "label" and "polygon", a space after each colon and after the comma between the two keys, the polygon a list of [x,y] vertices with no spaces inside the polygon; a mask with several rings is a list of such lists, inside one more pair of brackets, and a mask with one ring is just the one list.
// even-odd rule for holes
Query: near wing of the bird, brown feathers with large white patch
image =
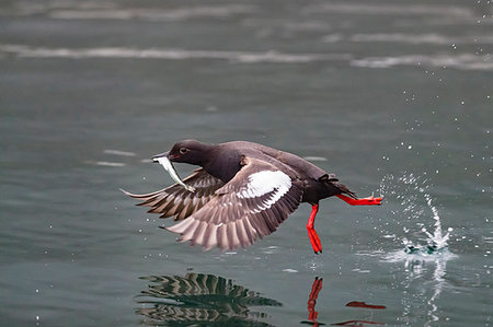
{"label": "near wing of the bird, brown feathers with large white patch", "polygon": [[244,157],[240,172],[202,209],[167,230],[179,241],[222,250],[249,246],[273,233],[302,198],[302,183],[294,172],[273,163]]}

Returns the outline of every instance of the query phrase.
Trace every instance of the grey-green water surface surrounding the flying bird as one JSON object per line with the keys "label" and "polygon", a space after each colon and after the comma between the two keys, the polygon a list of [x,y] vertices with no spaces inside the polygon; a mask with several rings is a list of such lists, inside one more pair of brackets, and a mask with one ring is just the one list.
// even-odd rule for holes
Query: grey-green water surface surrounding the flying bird
{"label": "grey-green water surface surrounding the flying bird", "polygon": [[[0,324],[491,326],[492,13],[1,1]],[[203,253],[118,190],[170,185],[149,157],[185,138],[289,151],[385,203],[321,202],[319,256],[307,205]]]}

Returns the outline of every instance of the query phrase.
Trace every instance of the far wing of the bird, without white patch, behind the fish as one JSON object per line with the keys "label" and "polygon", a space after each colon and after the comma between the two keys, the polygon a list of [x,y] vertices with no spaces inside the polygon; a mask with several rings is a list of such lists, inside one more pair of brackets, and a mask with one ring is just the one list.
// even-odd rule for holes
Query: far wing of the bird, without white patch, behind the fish
{"label": "far wing of the bird, without white patch, behind the fish", "polygon": [[196,170],[183,179],[183,183],[194,187],[195,191],[186,190],[179,184],[146,195],[135,195],[123,189],[122,191],[142,201],[137,206],[151,207],[148,212],[161,213],[160,218],[174,215],[174,220],[183,220],[210,201],[215,191],[225,185],[203,168]]}

